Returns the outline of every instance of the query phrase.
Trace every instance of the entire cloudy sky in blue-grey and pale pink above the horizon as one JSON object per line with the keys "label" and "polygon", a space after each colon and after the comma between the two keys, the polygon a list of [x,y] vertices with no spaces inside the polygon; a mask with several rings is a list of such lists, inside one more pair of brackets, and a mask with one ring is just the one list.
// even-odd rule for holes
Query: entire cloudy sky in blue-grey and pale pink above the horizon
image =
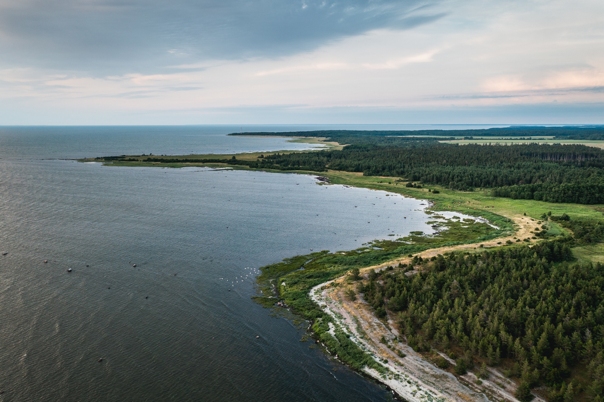
{"label": "entire cloudy sky in blue-grey and pale pink above the horizon", "polygon": [[0,0],[0,124],[604,124],[602,0]]}

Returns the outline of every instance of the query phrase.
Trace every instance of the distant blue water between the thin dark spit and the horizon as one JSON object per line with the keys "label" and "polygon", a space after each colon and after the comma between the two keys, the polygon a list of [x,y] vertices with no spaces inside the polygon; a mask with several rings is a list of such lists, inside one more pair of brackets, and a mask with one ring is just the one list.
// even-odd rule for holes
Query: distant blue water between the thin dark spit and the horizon
{"label": "distant blue water between the thin dark spit and the horizon", "polygon": [[[503,126],[306,125],[306,126],[0,126],[0,158],[85,158],[108,155],[185,155],[309,149],[284,138],[228,137],[239,132],[301,130],[461,130]],[[315,145],[316,146],[316,145]],[[312,146],[311,146],[312,147]]]}

